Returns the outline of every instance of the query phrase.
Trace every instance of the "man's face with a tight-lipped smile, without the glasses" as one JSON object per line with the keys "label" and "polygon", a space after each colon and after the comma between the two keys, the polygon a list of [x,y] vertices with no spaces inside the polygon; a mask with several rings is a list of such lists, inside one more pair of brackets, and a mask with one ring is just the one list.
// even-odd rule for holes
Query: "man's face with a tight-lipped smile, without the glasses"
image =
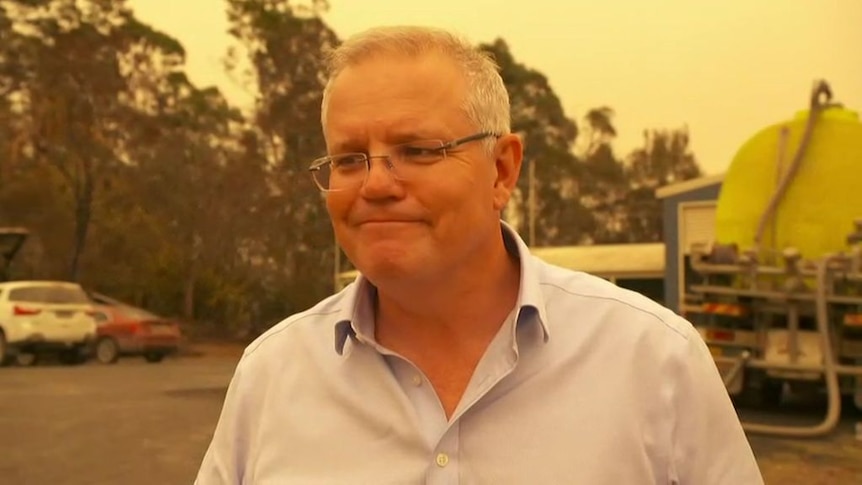
{"label": "man's face with a tight-lipped smile, without the glasses", "polygon": [[[449,142],[479,130],[461,106],[462,71],[437,55],[371,58],[341,72],[329,98],[324,132],[330,154],[392,153],[398,143]],[[327,209],[348,258],[372,282],[428,280],[452,274],[480,255],[497,231],[498,167],[482,141],[450,150],[399,180],[386,161],[371,160],[361,187],[327,193]]]}

